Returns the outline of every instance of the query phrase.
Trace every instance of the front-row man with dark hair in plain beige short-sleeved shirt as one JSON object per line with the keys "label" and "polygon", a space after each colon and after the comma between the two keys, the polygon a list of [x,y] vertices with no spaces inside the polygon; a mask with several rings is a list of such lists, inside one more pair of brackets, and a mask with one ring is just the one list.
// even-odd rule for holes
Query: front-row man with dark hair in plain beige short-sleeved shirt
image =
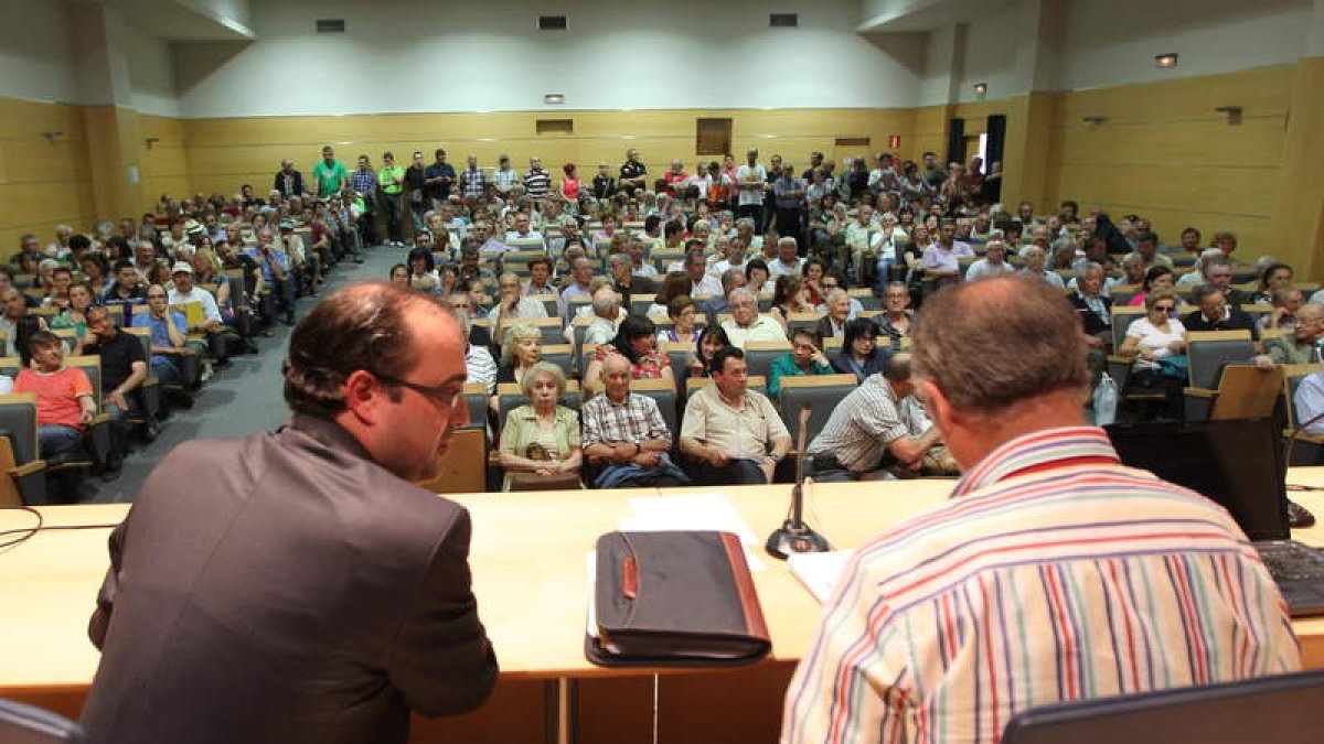
{"label": "front-row man with dark hair in plain beige short-sleeved shirt", "polygon": [[706,486],[764,485],[790,451],[790,433],[772,402],[748,389],[744,352],[723,347],[708,365],[712,384],[690,396],[681,451]]}

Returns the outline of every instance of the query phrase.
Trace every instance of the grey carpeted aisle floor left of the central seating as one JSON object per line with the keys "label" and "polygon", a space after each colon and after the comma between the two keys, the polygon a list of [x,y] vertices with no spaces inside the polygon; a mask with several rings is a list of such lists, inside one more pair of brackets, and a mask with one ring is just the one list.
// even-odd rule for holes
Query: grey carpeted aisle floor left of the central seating
{"label": "grey carpeted aisle floor left of the central seating", "polygon": [[[393,263],[402,261],[404,249],[376,246],[364,256],[363,263],[340,262],[323,285],[326,297],[335,287],[360,279],[385,279]],[[316,303],[315,298],[299,301],[302,318]],[[83,482],[82,502],[131,502],[147,481],[152,469],[176,445],[189,440],[246,437],[258,432],[271,432],[289,417],[281,393],[281,360],[289,348],[293,328],[277,324],[273,338],[258,338],[261,351],[256,355],[236,356],[234,364],[220,369],[199,392],[189,410],[175,410],[162,425],[162,434],[150,445],[135,445],[124,461],[122,475],[110,483],[90,477]],[[185,487],[185,485],[181,485]]]}

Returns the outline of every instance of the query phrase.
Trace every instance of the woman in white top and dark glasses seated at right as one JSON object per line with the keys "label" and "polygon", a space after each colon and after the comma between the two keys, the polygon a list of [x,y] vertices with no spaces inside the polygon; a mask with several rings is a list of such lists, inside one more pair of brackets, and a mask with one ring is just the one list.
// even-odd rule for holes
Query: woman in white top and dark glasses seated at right
{"label": "woman in white top and dark glasses seated at right", "polygon": [[1186,328],[1173,315],[1177,295],[1168,289],[1156,289],[1145,298],[1145,316],[1127,327],[1127,338],[1117,353],[1132,359],[1127,387],[1162,391],[1165,404],[1161,416],[1181,421],[1185,400],[1181,389],[1186,384]]}

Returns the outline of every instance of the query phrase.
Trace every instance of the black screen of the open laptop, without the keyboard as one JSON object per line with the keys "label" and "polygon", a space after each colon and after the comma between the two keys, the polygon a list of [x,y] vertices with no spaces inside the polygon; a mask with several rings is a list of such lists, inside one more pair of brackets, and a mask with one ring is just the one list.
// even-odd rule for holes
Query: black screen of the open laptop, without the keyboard
{"label": "black screen of the open laptop, without the keyboard", "polygon": [[1283,453],[1268,418],[1116,424],[1107,428],[1121,462],[1204,494],[1251,540],[1286,540]]}

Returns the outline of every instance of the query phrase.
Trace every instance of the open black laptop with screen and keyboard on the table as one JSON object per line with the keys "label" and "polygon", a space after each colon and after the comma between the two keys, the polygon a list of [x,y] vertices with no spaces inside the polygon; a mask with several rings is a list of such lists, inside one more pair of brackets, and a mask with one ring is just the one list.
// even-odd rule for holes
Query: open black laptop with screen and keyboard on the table
{"label": "open black laptop with screen and keyboard on the table", "polygon": [[1287,466],[1271,420],[1115,424],[1107,432],[1123,463],[1226,508],[1292,617],[1324,616],[1324,552],[1291,539]]}

